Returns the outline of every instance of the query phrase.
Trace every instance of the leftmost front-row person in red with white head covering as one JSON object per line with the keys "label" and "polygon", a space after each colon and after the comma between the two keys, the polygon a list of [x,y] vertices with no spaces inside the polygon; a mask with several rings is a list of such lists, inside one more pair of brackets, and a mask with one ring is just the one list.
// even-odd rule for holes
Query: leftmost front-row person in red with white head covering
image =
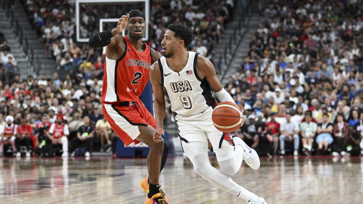
{"label": "leftmost front-row person in red with white head covering", "polygon": [[16,151],[15,148],[15,137],[16,137],[16,125],[14,122],[14,117],[8,115],[5,117],[6,124],[0,126],[0,155],[3,153],[4,145],[11,144],[13,147],[13,152]]}

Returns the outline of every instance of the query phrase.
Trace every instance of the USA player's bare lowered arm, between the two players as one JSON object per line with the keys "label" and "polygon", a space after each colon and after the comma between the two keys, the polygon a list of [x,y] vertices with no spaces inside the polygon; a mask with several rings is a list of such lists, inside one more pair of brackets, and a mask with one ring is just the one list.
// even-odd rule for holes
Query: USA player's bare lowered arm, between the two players
{"label": "USA player's bare lowered arm, between the two players", "polygon": [[155,62],[151,65],[149,76],[154,93],[154,110],[156,120],[154,142],[159,143],[161,142],[161,134],[164,133],[163,121],[165,117],[165,98],[164,89],[161,85],[160,67],[158,62]]}

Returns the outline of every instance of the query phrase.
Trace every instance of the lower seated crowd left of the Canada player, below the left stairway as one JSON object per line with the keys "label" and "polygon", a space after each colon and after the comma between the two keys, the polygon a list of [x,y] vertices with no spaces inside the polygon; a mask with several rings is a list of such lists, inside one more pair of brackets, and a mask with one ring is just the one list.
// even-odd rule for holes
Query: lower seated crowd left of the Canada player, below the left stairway
{"label": "lower seated crowd left of the Canada player, below the left stairway", "polygon": [[0,82],[0,154],[9,148],[17,157],[115,153],[118,137],[102,115],[101,85],[82,75],[62,81],[57,73]]}

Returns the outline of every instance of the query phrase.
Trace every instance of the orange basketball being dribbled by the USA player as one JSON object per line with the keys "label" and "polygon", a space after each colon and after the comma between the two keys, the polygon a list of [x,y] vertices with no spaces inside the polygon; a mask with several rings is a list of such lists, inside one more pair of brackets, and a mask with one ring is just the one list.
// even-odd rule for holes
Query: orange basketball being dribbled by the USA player
{"label": "orange basketball being dribbled by the USA player", "polygon": [[228,133],[237,130],[245,119],[239,106],[225,101],[214,108],[212,120],[218,130]]}

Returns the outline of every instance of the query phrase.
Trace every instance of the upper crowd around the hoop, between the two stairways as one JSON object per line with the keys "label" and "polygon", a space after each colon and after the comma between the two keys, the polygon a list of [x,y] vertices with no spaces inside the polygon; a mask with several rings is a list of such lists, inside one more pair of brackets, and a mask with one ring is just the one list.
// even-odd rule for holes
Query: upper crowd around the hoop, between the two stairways
{"label": "upper crowd around the hoop, between the two stairways", "polygon": [[[56,60],[57,69],[65,73],[60,75],[62,79],[70,70],[87,73],[88,78],[102,75],[102,48],[76,43],[75,1],[22,1],[30,23],[44,41],[46,54]],[[167,25],[183,23],[194,33],[189,49],[212,58],[214,46],[220,42],[226,24],[232,20],[234,3],[233,0],[151,1],[148,44],[160,51]],[[100,18],[119,18],[130,8],[143,7],[143,3],[119,4],[116,7],[110,4],[82,4],[80,36],[89,38],[98,33]],[[111,28],[104,25],[104,29]]]}

